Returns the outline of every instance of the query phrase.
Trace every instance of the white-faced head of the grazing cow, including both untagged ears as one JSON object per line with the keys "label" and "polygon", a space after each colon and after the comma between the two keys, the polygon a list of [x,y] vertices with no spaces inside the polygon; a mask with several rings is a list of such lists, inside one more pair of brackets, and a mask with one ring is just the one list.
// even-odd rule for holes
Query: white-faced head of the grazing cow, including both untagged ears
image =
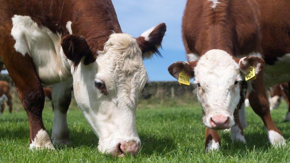
{"label": "white-faced head of the grazing cow, including both untagged ears", "polygon": [[165,31],[162,23],[138,38],[113,33],[97,58],[83,37],[63,38],[62,48],[72,65],[76,102],[99,137],[98,149],[103,153],[123,156],[139,150],[135,112],[148,81],[143,58],[159,53]]}

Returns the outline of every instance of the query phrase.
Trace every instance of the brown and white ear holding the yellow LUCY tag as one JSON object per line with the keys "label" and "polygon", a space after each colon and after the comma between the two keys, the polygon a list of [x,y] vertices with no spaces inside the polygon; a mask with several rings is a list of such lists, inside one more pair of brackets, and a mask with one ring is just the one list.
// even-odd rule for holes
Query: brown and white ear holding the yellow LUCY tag
{"label": "brown and white ear holding the yellow LUCY tag", "polygon": [[255,73],[259,74],[259,72],[263,72],[261,70],[264,69],[265,61],[258,56],[248,56],[244,58],[235,58],[234,59],[237,64],[239,64],[239,69],[241,72],[245,73],[250,66],[255,67]]}

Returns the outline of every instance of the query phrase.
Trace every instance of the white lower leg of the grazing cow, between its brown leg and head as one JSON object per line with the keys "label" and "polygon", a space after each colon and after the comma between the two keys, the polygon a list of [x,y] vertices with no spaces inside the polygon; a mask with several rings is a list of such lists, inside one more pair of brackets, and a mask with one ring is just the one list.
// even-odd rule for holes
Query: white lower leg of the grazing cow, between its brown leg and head
{"label": "white lower leg of the grazing cow, between its brown leg and head", "polygon": [[51,140],[57,145],[71,144],[67,126],[67,110],[71,102],[72,83],[70,79],[52,87],[54,118]]}

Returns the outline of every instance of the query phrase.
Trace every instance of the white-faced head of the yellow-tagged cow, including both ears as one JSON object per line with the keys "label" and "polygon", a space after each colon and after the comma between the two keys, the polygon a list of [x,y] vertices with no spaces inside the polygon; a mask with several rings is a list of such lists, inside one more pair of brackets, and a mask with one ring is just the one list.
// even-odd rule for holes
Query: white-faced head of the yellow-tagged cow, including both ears
{"label": "white-faced head of the yellow-tagged cow, including both ears", "polygon": [[239,82],[245,80],[243,74],[250,65],[259,75],[264,60],[257,56],[234,58],[223,50],[209,50],[196,61],[175,62],[168,71],[177,79],[182,70],[194,78],[203,123],[212,129],[227,129],[235,124],[233,113],[240,100]]}

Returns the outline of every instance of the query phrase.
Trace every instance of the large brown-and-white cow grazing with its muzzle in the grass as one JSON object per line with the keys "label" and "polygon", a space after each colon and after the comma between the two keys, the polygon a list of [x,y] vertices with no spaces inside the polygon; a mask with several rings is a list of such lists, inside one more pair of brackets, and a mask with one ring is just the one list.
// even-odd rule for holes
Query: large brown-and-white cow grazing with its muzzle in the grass
{"label": "large brown-and-white cow grazing with its muzzle in the grass", "polygon": [[[0,0],[0,55],[27,112],[30,149],[69,144],[67,109],[75,100],[103,153],[136,154],[135,112],[148,80],[144,58],[160,54],[161,23],[134,38],[122,33],[111,0]],[[51,139],[42,122],[52,85]],[[51,141],[52,140],[52,141]]]}

